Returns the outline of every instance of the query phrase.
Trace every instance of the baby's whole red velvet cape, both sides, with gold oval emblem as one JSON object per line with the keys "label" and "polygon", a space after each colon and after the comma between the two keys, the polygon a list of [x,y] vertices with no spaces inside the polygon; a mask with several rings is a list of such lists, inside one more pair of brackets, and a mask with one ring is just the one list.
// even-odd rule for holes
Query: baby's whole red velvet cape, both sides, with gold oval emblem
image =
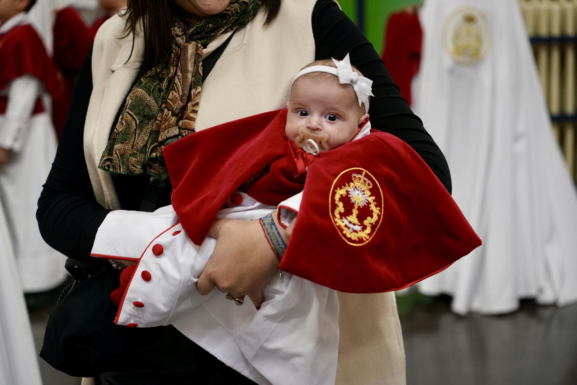
{"label": "baby's whole red velvet cape, both sides, with gold oval emblem", "polygon": [[[290,169],[285,123],[286,110],[268,112],[197,132],[164,149],[172,203],[194,243],[202,242],[230,194],[267,164],[279,165],[261,178],[270,183],[253,184],[247,194],[271,205],[294,194],[282,194],[279,182],[286,176],[279,171]],[[295,187],[290,180],[286,186]],[[479,245],[421,157],[395,136],[372,131],[309,165],[279,268],[336,290],[379,293],[425,279]]]}

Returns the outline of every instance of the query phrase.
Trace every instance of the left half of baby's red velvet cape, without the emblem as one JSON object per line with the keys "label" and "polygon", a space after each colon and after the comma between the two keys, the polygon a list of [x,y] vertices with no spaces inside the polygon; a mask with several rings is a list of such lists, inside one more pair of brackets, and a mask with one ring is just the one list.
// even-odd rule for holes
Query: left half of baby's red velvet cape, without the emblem
{"label": "left half of baby's red velvet cape, without the emblem", "polygon": [[302,191],[284,155],[286,109],[204,129],[164,147],[171,201],[189,238],[200,245],[216,214],[239,187],[269,171],[245,192],[276,206]]}

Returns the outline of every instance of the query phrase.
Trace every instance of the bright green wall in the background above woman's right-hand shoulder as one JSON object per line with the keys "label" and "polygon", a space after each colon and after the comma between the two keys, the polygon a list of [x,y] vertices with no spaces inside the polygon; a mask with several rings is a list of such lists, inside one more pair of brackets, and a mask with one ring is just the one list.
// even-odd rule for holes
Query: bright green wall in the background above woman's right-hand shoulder
{"label": "bright green wall in the background above woman's right-hand shoulder", "polygon": [[343,11],[357,22],[357,1],[365,2],[365,35],[380,54],[383,49],[385,23],[389,13],[403,5],[421,4],[422,0],[338,0]]}

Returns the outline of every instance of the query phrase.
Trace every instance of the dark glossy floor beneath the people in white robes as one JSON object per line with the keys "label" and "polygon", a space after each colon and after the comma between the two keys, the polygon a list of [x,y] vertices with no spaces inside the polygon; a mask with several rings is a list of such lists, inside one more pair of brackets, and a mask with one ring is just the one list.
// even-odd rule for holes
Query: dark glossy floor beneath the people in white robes
{"label": "dark glossy floor beneath the people in white robes", "polygon": [[[58,294],[29,299],[38,350]],[[408,385],[577,384],[577,304],[556,308],[523,301],[506,316],[461,317],[449,311],[448,297],[411,293],[397,301]],[[44,385],[80,384],[43,360],[40,371]]]}

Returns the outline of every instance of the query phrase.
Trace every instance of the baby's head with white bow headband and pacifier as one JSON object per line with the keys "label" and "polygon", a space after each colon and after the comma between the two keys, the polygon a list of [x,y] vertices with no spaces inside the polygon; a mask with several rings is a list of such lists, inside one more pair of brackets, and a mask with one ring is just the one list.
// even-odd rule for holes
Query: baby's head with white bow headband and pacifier
{"label": "baby's head with white bow headband and pacifier", "polygon": [[[339,65],[343,82],[338,77]],[[372,83],[350,64],[348,54],[342,62],[316,60],[306,65],[291,84],[284,128],[286,138],[299,149],[317,156],[322,151],[360,138],[363,128],[363,136],[369,134],[368,110],[369,97],[373,96]],[[298,166],[295,168],[292,162],[294,159],[296,163],[298,156],[289,156],[288,159],[295,176],[302,174],[302,169],[299,170]],[[285,233],[287,238],[290,238],[294,224],[294,216],[290,217]],[[286,227],[276,221],[275,225]]]}

